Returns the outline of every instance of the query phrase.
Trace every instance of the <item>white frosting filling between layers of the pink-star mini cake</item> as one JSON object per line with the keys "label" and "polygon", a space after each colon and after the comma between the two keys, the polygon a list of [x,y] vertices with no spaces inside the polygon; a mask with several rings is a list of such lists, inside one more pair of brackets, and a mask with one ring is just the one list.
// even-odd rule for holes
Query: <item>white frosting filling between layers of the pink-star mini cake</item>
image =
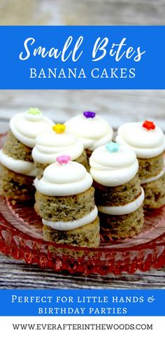
{"label": "white frosting filling between layers of the pink-star mini cake", "polygon": [[71,231],[73,229],[88,225],[89,223],[91,223],[96,219],[97,214],[98,209],[95,206],[94,209],[92,209],[92,212],[83,216],[80,219],[76,219],[73,221],[48,221],[45,219],[42,219],[42,221],[44,225],[52,227],[57,231]]}

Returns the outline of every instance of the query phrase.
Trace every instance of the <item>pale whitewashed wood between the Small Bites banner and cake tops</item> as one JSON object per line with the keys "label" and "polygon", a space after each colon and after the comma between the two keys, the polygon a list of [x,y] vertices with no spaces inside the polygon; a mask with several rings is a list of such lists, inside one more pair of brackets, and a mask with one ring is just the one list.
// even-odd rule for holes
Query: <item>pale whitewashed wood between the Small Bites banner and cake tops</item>
{"label": "pale whitewashed wood between the Small Bites banner and cake tops", "polygon": [[38,106],[54,121],[96,111],[113,128],[130,121],[154,120],[165,130],[165,90],[1,90],[0,118]]}

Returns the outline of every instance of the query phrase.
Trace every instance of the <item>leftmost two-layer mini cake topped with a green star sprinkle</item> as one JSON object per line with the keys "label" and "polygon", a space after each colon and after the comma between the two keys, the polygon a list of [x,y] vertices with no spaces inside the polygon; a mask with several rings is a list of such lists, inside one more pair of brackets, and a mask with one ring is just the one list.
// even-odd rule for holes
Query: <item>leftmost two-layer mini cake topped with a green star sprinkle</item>
{"label": "leftmost two-layer mini cake topped with a green star sprinkle", "polygon": [[10,130],[0,151],[1,195],[10,200],[31,200],[36,176],[31,156],[36,136],[53,125],[38,109],[16,114],[10,119]]}

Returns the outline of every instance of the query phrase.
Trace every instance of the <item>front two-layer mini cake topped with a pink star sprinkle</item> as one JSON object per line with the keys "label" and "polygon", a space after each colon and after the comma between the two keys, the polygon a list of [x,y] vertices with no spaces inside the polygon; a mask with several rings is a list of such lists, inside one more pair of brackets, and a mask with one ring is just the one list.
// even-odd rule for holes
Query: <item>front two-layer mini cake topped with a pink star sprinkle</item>
{"label": "front two-layer mini cake topped with a pink star sprinkle", "polygon": [[99,246],[99,218],[94,205],[92,177],[84,166],[57,157],[36,178],[36,209],[45,240],[82,247]]}

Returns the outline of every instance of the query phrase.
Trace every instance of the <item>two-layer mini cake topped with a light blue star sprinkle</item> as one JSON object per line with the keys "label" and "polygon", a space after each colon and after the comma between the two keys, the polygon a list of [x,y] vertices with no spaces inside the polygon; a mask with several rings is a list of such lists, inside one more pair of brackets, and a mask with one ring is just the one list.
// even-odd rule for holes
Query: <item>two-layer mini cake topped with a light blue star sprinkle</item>
{"label": "two-layer mini cake topped with a light blue star sprinkle", "polygon": [[138,160],[128,146],[110,142],[89,159],[101,229],[113,239],[129,238],[143,228],[144,192]]}

